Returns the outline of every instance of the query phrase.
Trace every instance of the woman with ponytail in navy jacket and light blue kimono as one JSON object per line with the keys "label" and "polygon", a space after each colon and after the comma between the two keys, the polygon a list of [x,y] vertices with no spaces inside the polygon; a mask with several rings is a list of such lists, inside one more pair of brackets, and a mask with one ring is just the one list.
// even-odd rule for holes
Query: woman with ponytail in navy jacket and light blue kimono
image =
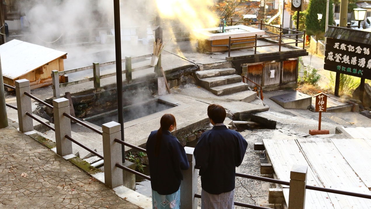
{"label": "woman with ponytail in navy jacket and light blue kimono", "polygon": [[160,128],[152,131],[147,140],[153,209],[180,208],[181,170],[187,170],[189,163],[183,146],[171,135],[176,128],[174,115],[165,114],[161,117]]}

